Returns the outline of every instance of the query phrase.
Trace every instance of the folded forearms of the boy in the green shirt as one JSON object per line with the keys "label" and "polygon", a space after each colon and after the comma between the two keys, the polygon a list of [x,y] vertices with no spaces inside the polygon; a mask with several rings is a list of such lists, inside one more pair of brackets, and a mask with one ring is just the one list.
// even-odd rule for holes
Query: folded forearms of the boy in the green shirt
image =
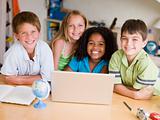
{"label": "folded forearms of the boy in the green shirt", "polygon": [[129,89],[122,84],[114,85],[114,92],[133,99],[150,99],[153,96],[153,87],[148,86],[140,90]]}

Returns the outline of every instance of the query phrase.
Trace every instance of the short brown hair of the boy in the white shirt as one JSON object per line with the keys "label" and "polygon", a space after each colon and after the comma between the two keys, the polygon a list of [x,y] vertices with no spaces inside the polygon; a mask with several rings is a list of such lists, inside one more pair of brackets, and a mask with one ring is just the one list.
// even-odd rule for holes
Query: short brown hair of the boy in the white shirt
{"label": "short brown hair of the boy in the white shirt", "polygon": [[36,26],[39,32],[41,30],[41,24],[38,16],[33,12],[23,11],[18,13],[12,20],[13,32],[18,33],[19,27],[24,23],[29,23],[32,24],[33,26]]}

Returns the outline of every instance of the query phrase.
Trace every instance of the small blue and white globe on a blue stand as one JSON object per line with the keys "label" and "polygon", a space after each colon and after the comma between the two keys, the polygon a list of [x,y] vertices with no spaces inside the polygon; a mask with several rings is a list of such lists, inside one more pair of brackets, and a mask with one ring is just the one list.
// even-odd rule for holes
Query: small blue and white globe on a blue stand
{"label": "small blue and white globe on a blue stand", "polygon": [[42,100],[46,99],[49,96],[50,86],[49,83],[45,80],[36,80],[32,85],[33,94],[38,98],[38,102],[34,104],[34,108],[43,109],[46,107],[46,104]]}

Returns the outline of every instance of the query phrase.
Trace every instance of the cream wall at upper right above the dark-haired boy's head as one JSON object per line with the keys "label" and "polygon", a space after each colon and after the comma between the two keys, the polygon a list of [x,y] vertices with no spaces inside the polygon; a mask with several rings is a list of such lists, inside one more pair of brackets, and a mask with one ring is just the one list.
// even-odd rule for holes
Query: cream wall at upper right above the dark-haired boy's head
{"label": "cream wall at upper right above the dark-haired boy's head", "polygon": [[160,3],[155,0],[64,0],[63,6],[78,9],[89,20],[104,21],[107,26],[117,17],[117,27],[129,18],[142,19],[150,27],[160,17]]}

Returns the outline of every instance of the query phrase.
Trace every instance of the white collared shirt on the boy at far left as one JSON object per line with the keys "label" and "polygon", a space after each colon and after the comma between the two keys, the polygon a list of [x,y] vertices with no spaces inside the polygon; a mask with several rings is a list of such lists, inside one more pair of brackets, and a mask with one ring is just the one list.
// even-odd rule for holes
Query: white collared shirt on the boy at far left
{"label": "white collared shirt on the boy at far left", "polygon": [[53,71],[53,54],[42,40],[37,42],[35,56],[30,60],[27,51],[16,41],[4,54],[1,73],[4,75],[41,75],[44,80],[51,80]]}

